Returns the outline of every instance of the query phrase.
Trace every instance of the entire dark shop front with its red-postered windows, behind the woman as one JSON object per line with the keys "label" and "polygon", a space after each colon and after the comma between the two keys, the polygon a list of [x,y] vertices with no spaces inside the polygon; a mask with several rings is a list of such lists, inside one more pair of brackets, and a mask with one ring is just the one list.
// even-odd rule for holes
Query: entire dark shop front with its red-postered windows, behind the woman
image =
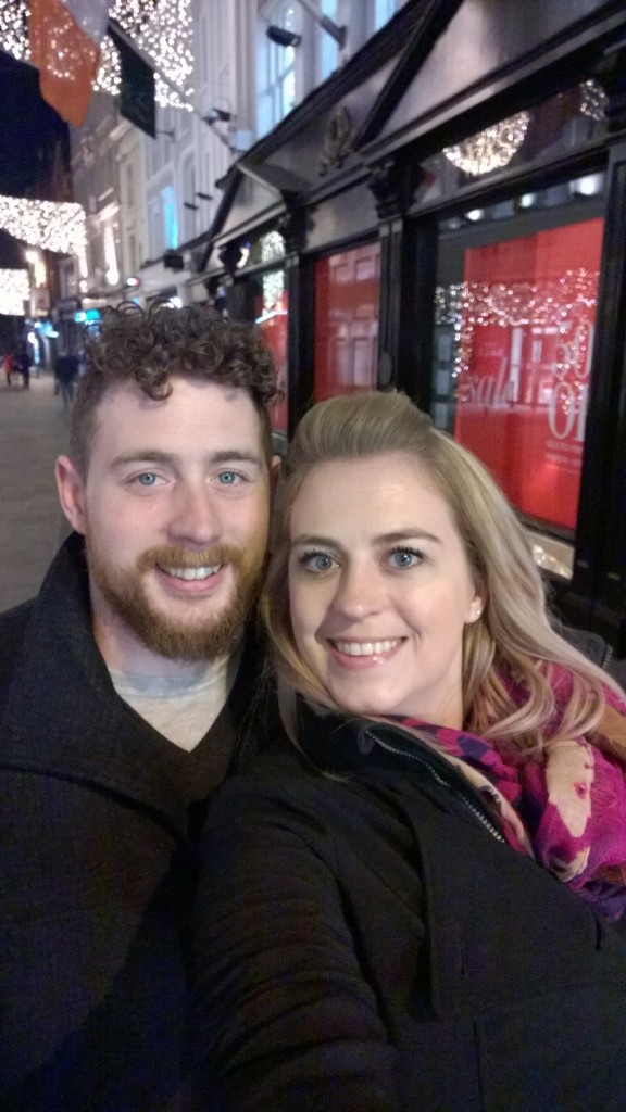
{"label": "entire dark shop front with its red-postered windows, behind the woman", "polygon": [[285,428],[405,390],[498,478],[564,618],[623,656],[626,10],[532,11],[409,0],[233,168],[207,275],[280,320]]}

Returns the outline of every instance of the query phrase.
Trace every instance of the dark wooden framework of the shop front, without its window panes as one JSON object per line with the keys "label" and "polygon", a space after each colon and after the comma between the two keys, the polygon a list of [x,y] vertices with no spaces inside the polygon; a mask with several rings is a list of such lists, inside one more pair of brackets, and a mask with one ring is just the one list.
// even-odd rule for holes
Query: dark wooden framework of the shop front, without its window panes
{"label": "dark wooden framework of the shop front, without its window panes", "polygon": [[[429,160],[444,147],[594,78],[608,96],[601,133],[464,177],[439,195]],[[552,109],[554,111],[554,106]],[[560,110],[560,109],[559,109]],[[547,109],[545,110],[545,116]],[[310,405],[314,265],[380,242],[378,385],[429,408],[442,221],[583,175],[604,173],[596,338],[573,575],[555,580],[564,616],[626,655],[626,7],[619,0],[409,0],[394,19],[224,182],[202,262],[238,316],[263,264],[244,244],[277,229],[288,294],[290,429]],[[576,217],[575,217],[576,218]],[[527,218],[520,211],[520,234]],[[531,524],[531,523],[530,523]]]}

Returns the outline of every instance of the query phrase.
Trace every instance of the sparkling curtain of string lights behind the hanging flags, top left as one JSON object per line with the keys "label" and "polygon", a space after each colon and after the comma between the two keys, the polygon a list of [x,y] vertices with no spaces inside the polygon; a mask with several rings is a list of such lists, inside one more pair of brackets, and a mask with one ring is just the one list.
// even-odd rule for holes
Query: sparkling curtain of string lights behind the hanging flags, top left
{"label": "sparkling curtain of string lights behind the hanging flags, top left", "polygon": [[[137,43],[156,69],[190,97],[194,68],[192,51],[192,0],[114,0],[109,16]],[[0,48],[19,61],[28,61],[28,0],[0,0]],[[114,96],[119,92],[119,56],[108,37],[102,43],[100,69],[94,88]],[[157,75],[156,99],[162,106],[183,101]]]}

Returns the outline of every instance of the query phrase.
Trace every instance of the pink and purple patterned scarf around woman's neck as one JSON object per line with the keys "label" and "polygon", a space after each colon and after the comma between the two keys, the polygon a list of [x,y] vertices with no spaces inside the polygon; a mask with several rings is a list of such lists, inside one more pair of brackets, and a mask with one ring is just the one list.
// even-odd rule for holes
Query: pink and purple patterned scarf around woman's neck
{"label": "pink and purple patterned scarf around woman's neck", "polygon": [[[552,668],[560,711],[571,691],[569,673]],[[510,688],[516,702],[519,689]],[[626,705],[605,688],[606,709],[596,733],[626,739]],[[501,755],[492,742],[414,718],[399,719],[456,765],[488,800],[502,834],[534,856],[607,919],[626,910],[626,768],[586,737],[556,742],[536,758]]]}

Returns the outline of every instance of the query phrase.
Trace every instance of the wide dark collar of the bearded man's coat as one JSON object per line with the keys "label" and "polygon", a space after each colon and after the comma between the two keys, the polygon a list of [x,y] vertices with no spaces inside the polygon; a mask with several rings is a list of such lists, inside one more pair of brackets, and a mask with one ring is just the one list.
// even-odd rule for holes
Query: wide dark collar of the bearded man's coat
{"label": "wide dark collar of the bearded man's coat", "polygon": [[[241,674],[250,676],[257,655],[248,639]],[[250,705],[241,682],[237,677],[229,711],[234,703]],[[234,726],[242,725],[241,717],[235,712]],[[187,811],[168,775],[177,754],[119,698],[94,639],[84,542],[77,534],[60,548],[31,604],[0,729],[4,766],[88,782],[186,830]],[[150,758],[155,752],[159,759]]]}

